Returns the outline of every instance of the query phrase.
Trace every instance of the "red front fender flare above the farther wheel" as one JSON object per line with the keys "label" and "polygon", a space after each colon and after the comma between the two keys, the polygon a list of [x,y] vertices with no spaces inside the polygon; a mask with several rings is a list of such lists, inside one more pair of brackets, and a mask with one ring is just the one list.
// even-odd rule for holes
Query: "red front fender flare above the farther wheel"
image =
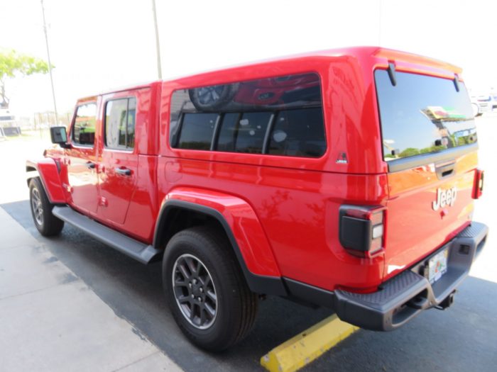
{"label": "red front fender flare above the farther wheel", "polygon": [[28,160],[26,162],[26,181],[28,186],[29,181],[35,177],[40,177],[50,203],[66,203],[62,181],[60,181],[60,165],[54,159],[46,157],[36,162]]}

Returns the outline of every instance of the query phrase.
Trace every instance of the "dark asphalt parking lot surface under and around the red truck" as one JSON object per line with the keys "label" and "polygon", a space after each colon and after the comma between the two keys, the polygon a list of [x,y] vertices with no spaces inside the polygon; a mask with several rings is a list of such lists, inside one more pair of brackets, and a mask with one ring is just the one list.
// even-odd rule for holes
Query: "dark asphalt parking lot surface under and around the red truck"
{"label": "dark asphalt parking lot surface under and around the red truck", "polygon": [[[304,371],[495,371],[497,238],[493,238],[493,232],[497,231],[497,197],[493,189],[497,186],[497,115],[484,115],[478,125],[486,188],[484,198],[476,203],[474,218],[489,225],[491,235],[471,276],[459,288],[452,308],[428,310],[395,332],[359,330]],[[0,170],[13,177],[9,185],[0,186],[0,207],[91,288],[117,317],[130,322],[185,371],[261,370],[261,356],[332,314],[324,308],[268,298],[261,301],[256,325],[244,342],[222,354],[197,349],[182,336],[168,310],[160,264],[143,266],[69,225],[59,237],[46,239],[38,234],[26,201],[26,182],[22,181],[23,154],[34,152],[34,147],[23,147],[21,142],[14,147],[12,143],[0,143]],[[23,334],[17,337],[16,342],[21,344]]]}

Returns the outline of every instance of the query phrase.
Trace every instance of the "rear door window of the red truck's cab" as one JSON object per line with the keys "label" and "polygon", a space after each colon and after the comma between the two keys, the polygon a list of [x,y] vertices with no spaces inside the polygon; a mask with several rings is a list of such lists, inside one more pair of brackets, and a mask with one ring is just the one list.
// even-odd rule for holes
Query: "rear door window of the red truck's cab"
{"label": "rear door window of the red truck's cab", "polygon": [[120,98],[105,105],[105,145],[131,150],[135,146],[136,98]]}

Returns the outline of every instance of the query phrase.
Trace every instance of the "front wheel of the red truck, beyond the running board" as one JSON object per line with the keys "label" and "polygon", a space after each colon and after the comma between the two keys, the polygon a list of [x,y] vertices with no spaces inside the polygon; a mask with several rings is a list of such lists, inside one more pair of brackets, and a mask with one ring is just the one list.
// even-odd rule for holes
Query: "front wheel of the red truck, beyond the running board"
{"label": "front wheel of the red truck, beyond the running board", "polygon": [[60,234],[64,227],[64,221],[52,214],[53,204],[48,201],[45,188],[38,178],[31,179],[29,183],[29,201],[31,215],[40,234],[44,237]]}

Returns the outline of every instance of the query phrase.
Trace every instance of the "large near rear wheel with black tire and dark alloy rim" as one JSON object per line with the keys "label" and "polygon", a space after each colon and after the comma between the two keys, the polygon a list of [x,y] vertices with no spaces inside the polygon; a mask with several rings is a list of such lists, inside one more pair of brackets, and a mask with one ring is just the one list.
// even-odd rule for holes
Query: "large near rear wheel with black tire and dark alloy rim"
{"label": "large near rear wheel with black tire and dark alloy rim", "polygon": [[[184,270],[180,266],[187,269],[189,278],[182,274]],[[192,227],[178,232],[165,248],[162,267],[169,307],[180,329],[193,344],[208,351],[222,351],[246,337],[256,319],[258,296],[249,290],[224,235],[208,227]],[[195,267],[199,278],[197,283]],[[176,283],[184,284],[174,286],[173,275]],[[212,283],[207,280],[207,275]],[[192,283],[193,286],[190,285]],[[203,284],[206,284],[204,291],[201,289]],[[204,293],[203,297],[200,297],[200,291]],[[217,299],[215,303],[212,300],[213,291]],[[199,296],[198,301],[195,300],[196,295]],[[191,296],[193,300],[190,300]],[[180,305],[180,300],[183,305]],[[207,306],[210,311],[214,308],[213,304],[215,315],[207,312]],[[190,315],[202,315],[204,323],[201,316],[187,317],[189,309]]]}

